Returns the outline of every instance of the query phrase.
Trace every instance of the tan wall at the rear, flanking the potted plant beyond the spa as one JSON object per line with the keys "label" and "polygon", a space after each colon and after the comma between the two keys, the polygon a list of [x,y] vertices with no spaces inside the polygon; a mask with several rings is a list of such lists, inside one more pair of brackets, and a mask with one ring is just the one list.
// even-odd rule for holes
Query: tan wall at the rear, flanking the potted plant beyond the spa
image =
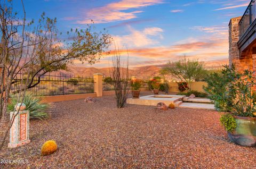
{"label": "tan wall at the rear, flanking the potted plant beyond the spa", "polygon": [[[207,86],[207,83],[204,81],[193,82],[193,83],[191,83],[191,90],[205,92],[203,89],[203,86]],[[180,92],[178,83],[169,82],[169,92]]]}

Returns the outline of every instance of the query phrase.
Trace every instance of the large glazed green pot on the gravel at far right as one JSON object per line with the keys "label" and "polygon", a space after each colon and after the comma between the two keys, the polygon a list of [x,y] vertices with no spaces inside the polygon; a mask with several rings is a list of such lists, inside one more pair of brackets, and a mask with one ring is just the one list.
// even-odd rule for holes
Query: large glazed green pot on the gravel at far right
{"label": "large glazed green pot on the gravel at far right", "polygon": [[240,146],[256,146],[256,117],[234,116],[236,129],[228,132],[229,140]]}

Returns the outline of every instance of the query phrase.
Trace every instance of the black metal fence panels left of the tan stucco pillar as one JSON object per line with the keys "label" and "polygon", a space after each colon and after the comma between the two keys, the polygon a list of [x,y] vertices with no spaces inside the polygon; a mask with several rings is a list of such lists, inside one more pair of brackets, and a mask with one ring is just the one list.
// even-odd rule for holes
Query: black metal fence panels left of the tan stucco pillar
{"label": "black metal fence panels left of the tan stucco pillar", "polygon": [[[18,91],[25,85],[28,78],[27,74],[18,74],[14,79],[12,91]],[[23,80],[22,80],[23,79]],[[29,79],[31,81],[31,79]],[[32,85],[38,82],[38,78],[34,78]],[[63,75],[44,75],[38,85],[26,90],[27,94],[33,96],[53,96],[53,95],[69,95],[69,94],[87,94],[94,92],[94,79],[90,77],[71,77]]]}

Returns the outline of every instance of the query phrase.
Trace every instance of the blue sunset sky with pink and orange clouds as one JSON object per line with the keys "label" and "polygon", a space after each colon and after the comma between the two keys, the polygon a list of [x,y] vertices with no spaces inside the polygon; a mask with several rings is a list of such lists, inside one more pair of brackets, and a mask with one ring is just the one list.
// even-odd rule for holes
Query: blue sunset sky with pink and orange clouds
{"label": "blue sunset sky with pink and orange clouds", "polygon": [[[24,2],[28,20],[38,19],[45,12],[51,18],[57,17],[58,28],[63,32],[83,29],[92,19],[97,30],[108,30],[121,52],[129,50],[130,65],[135,67],[177,61],[184,54],[214,64],[226,63],[229,20],[243,15],[250,0]],[[110,59],[110,55],[105,56],[93,66],[108,67]]]}

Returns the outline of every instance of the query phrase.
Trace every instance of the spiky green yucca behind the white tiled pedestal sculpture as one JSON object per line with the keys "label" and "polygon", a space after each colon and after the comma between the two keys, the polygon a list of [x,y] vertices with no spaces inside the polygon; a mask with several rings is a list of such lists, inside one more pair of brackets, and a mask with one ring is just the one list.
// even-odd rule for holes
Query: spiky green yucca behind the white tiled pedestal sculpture
{"label": "spiky green yucca behind the white tiled pedestal sculpture", "polygon": [[[26,111],[29,111],[30,119],[46,119],[49,117],[47,109],[50,107],[49,103],[42,102],[41,98],[33,97],[31,95],[26,95],[24,97],[23,103],[26,105]],[[11,102],[7,106],[8,112],[14,110],[15,105],[17,104],[17,97],[13,96]]]}

